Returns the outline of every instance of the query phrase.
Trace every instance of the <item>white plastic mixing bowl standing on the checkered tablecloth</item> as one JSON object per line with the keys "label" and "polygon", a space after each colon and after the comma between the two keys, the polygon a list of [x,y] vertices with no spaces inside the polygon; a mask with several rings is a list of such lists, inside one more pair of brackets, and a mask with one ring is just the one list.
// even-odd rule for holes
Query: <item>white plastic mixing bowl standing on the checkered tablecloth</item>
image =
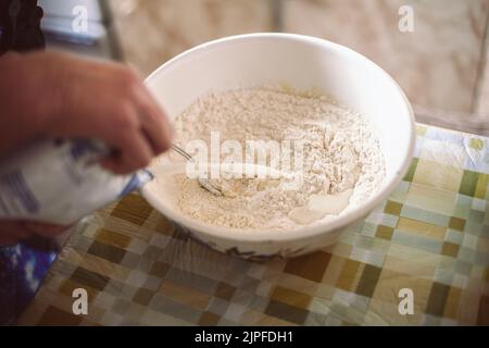
{"label": "white plastic mixing bowl standing on the checkered tablecloth", "polygon": [[289,232],[236,232],[208,225],[177,210],[156,182],[142,188],[150,204],[197,239],[217,250],[253,259],[293,257],[335,243],[399,185],[415,141],[413,112],[399,85],[365,57],[314,37],[250,34],[218,39],[177,55],[147,79],[171,120],[210,90],[266,84],[324,91],[369,117],[380,137],[387,173],[381,188],[362,206],[334,221]]}

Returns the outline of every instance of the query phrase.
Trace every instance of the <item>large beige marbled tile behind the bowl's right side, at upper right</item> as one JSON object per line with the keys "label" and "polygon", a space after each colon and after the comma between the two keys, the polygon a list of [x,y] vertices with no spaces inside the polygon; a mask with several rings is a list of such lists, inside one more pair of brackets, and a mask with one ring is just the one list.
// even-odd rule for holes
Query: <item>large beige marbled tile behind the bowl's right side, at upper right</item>
{"label": "large beige marbled tile behind the bowl's right side, at upper right", "polygon": [[[414,33],[398,29],[401,5]],[[487,0],[286,0],[284,29],[349,46],[388,71],[415,104],[469,111]]]}

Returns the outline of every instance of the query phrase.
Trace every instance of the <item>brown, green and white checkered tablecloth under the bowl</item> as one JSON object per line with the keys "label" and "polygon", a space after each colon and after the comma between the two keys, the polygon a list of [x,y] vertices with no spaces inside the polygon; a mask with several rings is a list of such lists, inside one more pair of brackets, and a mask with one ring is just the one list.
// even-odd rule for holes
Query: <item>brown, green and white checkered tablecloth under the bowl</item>
{"label": "brown, green and white checkered tablecloth under the bowl", "polygon": [[[488,184],[488,138],[419,125],[408,175],[363,225],[264,263],[193,241],[130,195],[79,224],[18,324],[489,325]],[[72,312],[75,288],[88,315]]]}

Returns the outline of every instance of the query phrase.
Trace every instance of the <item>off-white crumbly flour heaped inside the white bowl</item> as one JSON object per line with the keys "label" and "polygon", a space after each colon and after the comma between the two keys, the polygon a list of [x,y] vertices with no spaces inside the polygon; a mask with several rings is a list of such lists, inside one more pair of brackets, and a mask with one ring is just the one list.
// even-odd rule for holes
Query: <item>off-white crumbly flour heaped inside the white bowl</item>
{"label": "off-white crumbly flour heaped inside the white bowl", "polygon": [[[225,195],[216,197],[196,179],[174,174],[178,209],[213,225],[291,229],[334,219],[367,199],[385,176],[384,156],[367,120],[326,97],[266,88],[210,94],[177,116],[175,130],[181,146],[193,139],[209,144],[216,130],[221,141],[235,139],[243,148],[250,139],[305,140],[300,189],[286,189],[280,178],[220,179]],[[329,208],[311,215],[306,207],[317,202]]]}

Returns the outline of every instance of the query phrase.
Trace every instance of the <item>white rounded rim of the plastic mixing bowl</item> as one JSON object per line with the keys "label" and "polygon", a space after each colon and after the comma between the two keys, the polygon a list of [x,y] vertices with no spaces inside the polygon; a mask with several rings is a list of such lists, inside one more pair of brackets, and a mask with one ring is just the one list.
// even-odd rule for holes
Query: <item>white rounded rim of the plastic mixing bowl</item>
{"label": "white rounded rim of the plastic mixing bowl", "polygon": [[152,72],[145,80],[148,85],[156,75],[159,75],[162,71],[172,69],[175,64],[179,63],[183,59],[189,58],[189,55],[193,55],[196,53],[203,53],[204,51],[211,50],[215,46],[226,45],[230,42],[237,41],[247,41],[247,40],[268,40],[268,39],[278,39],[278,40],[292,40],[300,41],[309,45],[317,45],[322,47],[327,47],[329,50],[336,51],[337,53],[343,54],[346,57],[361,60],[365,64],[371,65],[375,70],[379,71],[392,85],[392,87],[400,94],[402,100],[404,101],[405,108],[408,109],[409,114],[409,129],[406,132],[410,133],[409,137],[409,146],[401,153],[404,158],[402,165],[397,170],[390,182],[386,183],[380,190],[372,195],[364,204],[355,207],[347,212],[344,215],[338,216],[333,221],[326,221],[324,223],[316,223],[313,225],[304,225],[299,228],[293,229],[272,229],[264,228],[260,231],[255,229],[238,229],[228,228],[224,226],[215,226],[205,223],[201,223],[195,219],[191,219],[184,213],[180,213],[177,209],[170,210],[166,207],[160,204],[160,199],[155,194],[151,192],[148,189],[148,186],[143,186],[141,188],[142,197],[158,211],[163,213],[170,220],[176,222],[177,224],[181,224],[187,228],[190,228],[192,232],[198,232],[202,235],[206,235],[211,238],[220,238],[226,239],[229,241],[243,241],[243,243],[265,243],[265,241],[290,241],[297,239],[304,239],[315,237],[317,235],[333,233],[334,231],[344,228],[350,224],[354,223],[363,219],[366,214],[371,213],[376,207],[378,207],[385,199],[389,197],[389,195],[396,189],[396,187],[401,183],[404,175],[408,173],[408,170],[411,165],[412,158],[414,156],[415,149],[415,119],[412,105],[405,96],[402,88],[399,84],[379,65],[364,57],[363,54],[348,48],[341,46],[339,44],[335,44],[328,41],[326,39],[305,36],[299,34],[288,34],[288,33],[252,33],[252,34],[242,34],[228,36],[215,40],[211,40],[201,45],[198,45],[189,50],[186,50],[176,57],[172,58],[160,67],[158,67],[154,72]]}

